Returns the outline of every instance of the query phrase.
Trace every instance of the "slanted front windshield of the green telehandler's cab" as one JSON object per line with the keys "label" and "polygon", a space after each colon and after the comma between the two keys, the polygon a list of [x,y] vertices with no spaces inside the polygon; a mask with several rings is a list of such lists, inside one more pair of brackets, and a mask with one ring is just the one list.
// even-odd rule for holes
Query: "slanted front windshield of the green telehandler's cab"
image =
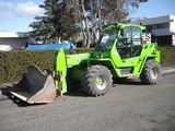
{"label": "slanted front windshield of the green telehandler's cab", "polygon": [[116,39],[116,35],[117,35],[116,28],[104,31],[97,43],[95,50],[98,51],[109,50]]}

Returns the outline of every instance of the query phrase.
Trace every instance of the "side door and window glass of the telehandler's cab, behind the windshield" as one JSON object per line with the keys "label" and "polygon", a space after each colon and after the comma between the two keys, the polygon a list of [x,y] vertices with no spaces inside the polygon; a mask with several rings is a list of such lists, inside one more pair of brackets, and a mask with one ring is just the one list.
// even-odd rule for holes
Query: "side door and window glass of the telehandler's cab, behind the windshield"
{"label": "side door and window glass of the telehandler's cab, behind the windshield", "polygon": [[128,26],[120,31],[116,48],[121,59],[138,57],[142,49],[142,31],[137,26]]}

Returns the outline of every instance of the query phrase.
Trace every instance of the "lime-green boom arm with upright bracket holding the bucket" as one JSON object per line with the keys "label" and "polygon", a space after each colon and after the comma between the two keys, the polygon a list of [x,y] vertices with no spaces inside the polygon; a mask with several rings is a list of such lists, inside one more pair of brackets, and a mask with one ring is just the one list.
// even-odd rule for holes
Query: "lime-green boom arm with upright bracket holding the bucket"
{"label": "lime-green boom arm with upright bracket holding the bucket", "polygon": [[66,76],[70,75],[68,73],[68,68],[74,68],[72,70],[72,74],[77,75],[75,78],[82,78],[79,76],[80,69],[78,66],[82,64],[83,61],[86,61],[89,59],[91,53],[78,53],[78,55],[65,55],[63,49],[58,49],[55,53],[55,62],[54,62],[54,69],[55,69],[55,84],[56,88],[61,91],[62,93],[67,93],[67,80]]}

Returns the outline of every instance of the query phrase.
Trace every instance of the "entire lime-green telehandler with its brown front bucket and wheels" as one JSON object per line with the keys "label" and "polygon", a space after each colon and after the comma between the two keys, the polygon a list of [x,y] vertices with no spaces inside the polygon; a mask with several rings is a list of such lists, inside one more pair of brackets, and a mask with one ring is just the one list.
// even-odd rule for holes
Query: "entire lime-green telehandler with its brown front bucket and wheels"
{"label": "entire lime-green telehandler with its brown front bucket and wheels", "polygon": [[10,91],[28,104],[52,102],[58,92],[68,87],[82,87],[91,96],[106,94],[113,80],[139,75],[143,84],[156,84],[161,79],[160,51],[150,43],[145,27],[132,24],[110,24],[91,53],[65,55],[58,49],[54,58],[54,72],[44,73],[36,66]]}

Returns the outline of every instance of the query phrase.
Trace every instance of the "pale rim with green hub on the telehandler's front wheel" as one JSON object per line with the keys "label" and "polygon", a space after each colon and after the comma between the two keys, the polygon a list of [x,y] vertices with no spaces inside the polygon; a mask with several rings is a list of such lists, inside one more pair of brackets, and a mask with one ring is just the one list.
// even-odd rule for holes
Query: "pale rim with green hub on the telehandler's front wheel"
{"label": "pale rim with green hub on the telehandler's front wheel", "polygon": [[96,83],[96,87],[98,90],[105,90],[106,88],[106,85],[107,85],[107,81],[104,79],[104,76],[97,76],[96,80],[95,80],[95,83]]}

